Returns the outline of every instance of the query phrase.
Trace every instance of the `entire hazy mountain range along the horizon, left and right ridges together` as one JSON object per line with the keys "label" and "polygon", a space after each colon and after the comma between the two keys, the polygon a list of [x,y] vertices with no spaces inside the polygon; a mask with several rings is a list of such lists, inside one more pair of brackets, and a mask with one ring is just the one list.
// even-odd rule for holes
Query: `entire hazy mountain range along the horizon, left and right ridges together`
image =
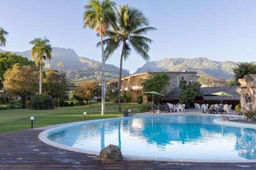
{"label": "entire hazy mountain range along the horizon, left and right ridges together", "polygon": [[[0,49],[0,52],[7,52]],[[31,51],[10,52],[31,59]],[[89,58],[79,57],[70,48],[53,47],[52,60],[45,62],[45,68],[58,69],[58,62],[63,62],[62,72],[67,74],[70,81],[82,81],[95,79],[101,76],[101,62]],[[256,64],[256,62],[254,62]],[[212,61],[207,58],[165,58],[159,61],[146,62],[139,67],[135,73],[145,71],[197,71],[200,75],[210,75],[214,77],[233,78],[232,68],[237,62],[232,61]],[[119,68],[112,64],[106,64],[106,78],[118,78]],[[122,69],[122,75],[129,75],[127,69]]]}

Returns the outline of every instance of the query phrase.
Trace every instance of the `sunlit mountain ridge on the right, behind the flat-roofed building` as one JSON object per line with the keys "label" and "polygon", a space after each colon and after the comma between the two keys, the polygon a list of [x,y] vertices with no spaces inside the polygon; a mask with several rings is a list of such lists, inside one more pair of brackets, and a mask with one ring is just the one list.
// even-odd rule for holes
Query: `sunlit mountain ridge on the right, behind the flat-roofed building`
{"label": "sunlit mountain ridge on the right, behind the flat-roofed building", "polygon": [[159,61],[150,61],[138,68],[135,73],[144,71],[197,71],[200,75],[233,78],[232,68],[236,66],[232,61],[212,61],[207,58],[165,58]]}

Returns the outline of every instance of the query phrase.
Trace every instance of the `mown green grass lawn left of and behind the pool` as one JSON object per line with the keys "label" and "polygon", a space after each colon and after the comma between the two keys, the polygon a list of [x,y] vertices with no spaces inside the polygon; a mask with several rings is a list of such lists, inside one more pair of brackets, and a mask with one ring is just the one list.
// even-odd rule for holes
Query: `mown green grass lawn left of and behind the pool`
{"label": "mown green grass lawn left of and behind the pool", "polygon": [[[139,106],[138,104],[122,104],[122,107],[131,109],[132,113],[139,113]],[[81,121],[84,111],[89,114],[87,120],[122,116],[122,112],[118,112],[118,104],[105,105],[105,114],[101,115],[100,103],[93,103],[92,107],[83,105],[53,110],[0,110],[0,133],[29,129],[30,116],[35,117],[34,128]]]}

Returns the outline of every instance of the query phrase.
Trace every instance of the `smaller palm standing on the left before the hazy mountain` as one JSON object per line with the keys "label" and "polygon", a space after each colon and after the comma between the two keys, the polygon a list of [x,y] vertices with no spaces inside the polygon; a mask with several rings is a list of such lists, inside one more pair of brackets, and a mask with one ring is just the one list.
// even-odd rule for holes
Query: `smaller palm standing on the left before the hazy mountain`
{"label": "smaller palm standing on the left before the hazy mountain", "polygon": [[29,42],[31,45],[34,45],[31,49],[32,59],[40,65],[40,77],[39,77],[39,94],[42,93],[42,63],[43,60],[51,60],[52,57],[52,45],[50,41],[44,38],[35,38]]}

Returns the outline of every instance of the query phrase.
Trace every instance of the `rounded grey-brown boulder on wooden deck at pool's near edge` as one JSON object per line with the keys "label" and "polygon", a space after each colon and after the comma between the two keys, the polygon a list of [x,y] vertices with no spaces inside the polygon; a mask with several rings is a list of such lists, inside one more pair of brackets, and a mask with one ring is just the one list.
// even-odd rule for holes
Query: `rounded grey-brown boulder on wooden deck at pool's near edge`
{"label": "rounded grey-brown boulder on wooden deck at pool's near edge", "polygon": [[105,147],[102,151],[100,151],[99,160],[120,161],[123,160],[123,155],[116,145],[110,144],[108,147]]}

